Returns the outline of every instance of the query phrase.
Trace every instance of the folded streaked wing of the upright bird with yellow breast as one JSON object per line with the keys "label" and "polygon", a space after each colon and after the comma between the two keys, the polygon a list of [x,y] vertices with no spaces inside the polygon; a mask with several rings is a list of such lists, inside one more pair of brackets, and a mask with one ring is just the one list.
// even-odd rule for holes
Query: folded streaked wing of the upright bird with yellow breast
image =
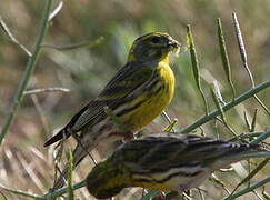
{"label": "folded streaked wing of the upright bird with yellow breast", "polygon": [[78,132],[86,126],[102,120],[107,116],[106,106],[113,110],[119,104],[126,103],[130,100],[128,97],[132,97],[138,88],[147,84],[151,77],[153,77],[153,70],[141,62],[127,63],[107,83],[101,93],[74,114],[62,130],[44,143],[44,147],[61,140],[63,137],[68,138],[70,132]]}

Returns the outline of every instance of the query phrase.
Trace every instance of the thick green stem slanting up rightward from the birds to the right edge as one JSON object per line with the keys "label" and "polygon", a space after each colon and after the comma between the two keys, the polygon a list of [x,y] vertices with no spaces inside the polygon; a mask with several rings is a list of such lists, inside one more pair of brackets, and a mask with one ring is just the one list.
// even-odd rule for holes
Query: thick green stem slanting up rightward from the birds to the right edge
{"label": "thick green stem slanting up rightward from the birds to the right edge", "polygon": [[[222,107],[223,111],[227,111],[233,107],[236,107],[237,104],[243,102],[244,100],[253,97],[256,93],[258,93],[259,91],[266,89],[270,87],[270,81],[266,81],[261,84],[258,84],[257,87],[248,90],[247,92],[242,93],[241,96],[237,97],[233,101],[230,101],[229,103],[227,103],[226,106]],[[198,119],[196,122],[193,122],[192,124],[183,128],[180,132],[181,133],[189,133],[192,130],[197,129],[198,127],[200,127],[201,124],[214,119],[217,116],[221,114],[220,110],[213,110],[212,112],[210,112],[208,116],[204,116],[200,119]]]}

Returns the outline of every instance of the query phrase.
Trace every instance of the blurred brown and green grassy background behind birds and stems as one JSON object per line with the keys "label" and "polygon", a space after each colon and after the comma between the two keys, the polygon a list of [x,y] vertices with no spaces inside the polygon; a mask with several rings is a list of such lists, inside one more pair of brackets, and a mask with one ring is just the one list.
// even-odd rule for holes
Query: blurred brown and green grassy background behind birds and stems
{"label": "blurred brown and green grassy background behind birds and stems", "polygon": [[[3,1],[3,0],[1,0]],[[53,2],[53,8],[60,1]],[[13,36],[32,50],[39,31],[43,1],[9,0],[0,2],[0,16]],[[30,89],[63,87],[70,92],[39,93],[26,96],[3,144],[0,147],[0,182],[12,188],[36,193],[44,193],[53,181],[52,148],[43,148],[43,142],[90,99],[94,98],[114,72],[126,63],[132,41],[147,32],[168,32],[182,43],[179,57],[172,58],[177,77],[176,97],[168,108],[170,118],[177,118],[176,129],[181,129],[204,114],[203,101],[196,88],[189,51],[186,43],[186,26],[191,24],[199,62],[202,88],[210,109],[214,103],[209,83],[217,80],[224,101],[232,98],[227,83],[219,52],[217,18],[221,18],[231,61],[232,80],[240,94],[251,88],[242,67],[231,13],[236,11],[244,38],[248,61],[256,83],[270,79],[270,2],[263,0],[72,0],[64,1],[61,11],[51,21],[43,44],[68,46],[80,42],[96,42],[94,46],[71,50],[43,48],[37,68],[28,86]],[[102,37],[102,39],[101,39]],[[19,80],[26,69],[28,56],[9,41],[0,31],[0,129],[9,112]],[[259,93],[270,108],[269,89]],[[229,124],[237,133],[248,131],[243,112],[251,120],[258,109],[256,130],[269,127],[269,117],[254,99],[227,112]],[[148,131],[162,130],[168,122],[158,118]],[[214,121],[202,127],[204,134],[229,139],[232,137],[222,124]],[[200,133],[200,130],[198,131]],[[71,142],[72,146],[72,142]],[[257,160],[256,160],[257,161]],[[258,160],[259,161],[259,160]],[[83,162],[76,173],[76,181],[89,172],[91,162]],[[88,169],[88,170],[87,170]],[[247,162],[241,162],[231,172],[217,172],[228,190],[248,174]],[[269,176],[263,169],[252,180]],[[224,189],[207,181],[201,187],[207,190],[207,199],[221,199]],[[268,186],[268,189],[270,187]],[[219,191],[219,192],[217,192]],[[76,192],[79,199],[91,199],[86,189]],[[140,192],[139,192],[140,193]],[[239,199],[260,199],[249,193]],[[10,196],[10,199],[24,199]],[[127,190],[126,199],[138,199],[138,190]],[[119,199],[124,199],[120,197]],[[1,197],[0,197],[1,199]],[[194,199],[200,199],[194,194]]]}

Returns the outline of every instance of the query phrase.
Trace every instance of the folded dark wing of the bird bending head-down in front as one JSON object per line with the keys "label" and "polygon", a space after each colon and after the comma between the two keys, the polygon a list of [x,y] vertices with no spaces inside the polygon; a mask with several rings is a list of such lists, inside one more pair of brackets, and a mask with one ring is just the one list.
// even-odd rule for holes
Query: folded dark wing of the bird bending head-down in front
{"label": "folded dark wing of the bird bending head-down in front", "polygon": [[[136,141],[133,141],[136,142]],[[196,134],[179,134],[179,133],[160,133],[152,134],[144,139],[138,140],[141,146],[128,147],[141,149],[141,156],[137,163],[132,161],[133,157],[130,153],[130,164],[136,164],[137,170],[141,172],[167,171],[173,168],[197,167],[203,164],[204,161],[214,160],[230,152],[242,151],[248,147],[243,143],[233,143],[222,140],[217,140]],[[136,151],[136,150],[134,150]],[[126,153],[128,153],[126,151]],[[122,158],[127,158],[123,156]],[[136,158],[136,156],[134,156]],[[127,164],[129,166],[129,164]]]}

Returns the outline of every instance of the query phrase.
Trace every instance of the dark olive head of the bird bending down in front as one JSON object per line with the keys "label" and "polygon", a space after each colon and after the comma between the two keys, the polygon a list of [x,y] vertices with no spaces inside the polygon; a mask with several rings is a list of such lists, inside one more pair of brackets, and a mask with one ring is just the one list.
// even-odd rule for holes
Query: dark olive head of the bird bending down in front
{"label": "dark olive head of the bird bending down in front", "polygon": [[127,176],[110,159],[97,164],[87,177],[88,191],[98,199],[107,199],[126,188]]}

